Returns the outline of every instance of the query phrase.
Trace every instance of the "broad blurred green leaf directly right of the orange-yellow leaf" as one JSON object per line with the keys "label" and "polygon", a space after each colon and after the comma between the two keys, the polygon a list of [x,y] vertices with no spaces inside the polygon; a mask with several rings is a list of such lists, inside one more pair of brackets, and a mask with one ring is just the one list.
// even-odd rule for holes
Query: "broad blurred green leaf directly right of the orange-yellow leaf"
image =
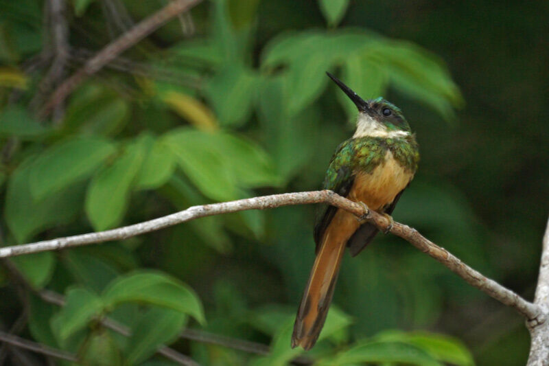
{"label": "broad blurred green leaf directly right of the orange-yellow leaf", "polygon": [[206,89],[222,126],[242,126],[250,115],[256,78],[248,69],[231,65],[218,72]]}

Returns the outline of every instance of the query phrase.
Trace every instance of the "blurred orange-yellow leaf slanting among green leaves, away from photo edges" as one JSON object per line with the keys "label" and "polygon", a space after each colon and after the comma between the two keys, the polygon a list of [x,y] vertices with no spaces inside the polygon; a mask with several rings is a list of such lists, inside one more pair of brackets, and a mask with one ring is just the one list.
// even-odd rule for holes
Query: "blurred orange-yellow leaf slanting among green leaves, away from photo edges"
{"label": "blurred orange-yellow leaf slanting among green leaves, away from photo edges", "polygon": [[215,131],[219,128],[211,109],[191,95],[169,91],[162,100],[200,130]]}

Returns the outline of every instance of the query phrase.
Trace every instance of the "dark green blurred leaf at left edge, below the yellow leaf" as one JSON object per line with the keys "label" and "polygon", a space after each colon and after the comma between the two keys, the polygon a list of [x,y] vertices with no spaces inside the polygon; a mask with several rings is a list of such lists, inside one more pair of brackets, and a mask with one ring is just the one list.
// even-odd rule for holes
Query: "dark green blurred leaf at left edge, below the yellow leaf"
{"label": "dark green blurred leaf at left edge, below the yellow leaf", "polygon": [[0,137],[34,137],[47,131],[21,106],[13,104],[0,112]]}

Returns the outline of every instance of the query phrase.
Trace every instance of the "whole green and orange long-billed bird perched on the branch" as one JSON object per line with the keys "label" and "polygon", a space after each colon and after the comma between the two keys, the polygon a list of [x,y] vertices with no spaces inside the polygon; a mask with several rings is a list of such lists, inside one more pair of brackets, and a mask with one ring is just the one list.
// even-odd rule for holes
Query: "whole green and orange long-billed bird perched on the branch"
{"label": "whole green and orange long-billed bird perched on the branch", "polygon": [[[400,108],[384,98],[363,100],[336,76],[327,75],[358,108],[353,136],[336,148],[323,188],[388,218],[412,181],[419,163],[416,137]],[[353,214],[328,206],[314,226],[316,258],[297,311],[292,348],[311,349],[326,320],[345,248],[355,256],[378,229]]]}

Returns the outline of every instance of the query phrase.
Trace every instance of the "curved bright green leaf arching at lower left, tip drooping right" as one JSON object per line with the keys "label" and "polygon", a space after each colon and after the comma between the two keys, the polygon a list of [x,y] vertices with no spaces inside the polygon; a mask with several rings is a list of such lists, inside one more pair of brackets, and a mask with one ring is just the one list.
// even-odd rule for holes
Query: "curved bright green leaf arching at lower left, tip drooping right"
{"label": "curved bright green leaf arching at lower left, tip drooping right", "polygon": [[194,290],[177,279],[155,271],[134,271],[118,277],[103,292],[110,308],[124,302],[162,306],[189,314],[204,323],[204,310]]}

